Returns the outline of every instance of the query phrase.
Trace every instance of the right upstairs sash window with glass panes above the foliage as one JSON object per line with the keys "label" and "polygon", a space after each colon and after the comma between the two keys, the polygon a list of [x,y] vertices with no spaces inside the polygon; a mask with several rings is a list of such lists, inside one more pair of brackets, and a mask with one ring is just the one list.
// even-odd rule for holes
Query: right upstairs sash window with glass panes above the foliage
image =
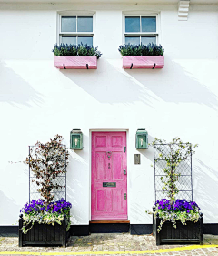
{"label": "right upstairs sash window with glass panes above the foliage", "polygon": [[124,16],[124,43],[147,45],[157,43],[156,16],[125,15]]}

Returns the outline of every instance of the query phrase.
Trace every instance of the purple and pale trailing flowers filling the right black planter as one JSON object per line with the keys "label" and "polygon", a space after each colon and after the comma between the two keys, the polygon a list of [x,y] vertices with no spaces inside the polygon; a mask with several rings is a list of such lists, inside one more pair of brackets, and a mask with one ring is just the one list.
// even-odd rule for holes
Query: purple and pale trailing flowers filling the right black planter
{"label": "purple and pale trailing flowers filling the right black planter", "polygon": [[165,221],[171,221],[176,229],[176,220],[186,225],[186,221],[197,222],[200,218],[200,208],[194,201],[175,200],[171,204],[170,200],[157,200],[154,203],[154,217],[161,218],[160,226],[157,231],[160,232]]}

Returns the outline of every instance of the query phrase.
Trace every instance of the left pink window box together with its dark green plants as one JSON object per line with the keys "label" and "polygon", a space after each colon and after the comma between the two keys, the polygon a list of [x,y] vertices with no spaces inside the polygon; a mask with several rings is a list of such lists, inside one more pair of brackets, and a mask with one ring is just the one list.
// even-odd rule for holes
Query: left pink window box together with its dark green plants
{"label": "left pink window box together with its dark green plants", "polygon": [[97,59],[102,56],[97,48],[83,44],[54,45],[54,66],[60,69],[97,69]]}

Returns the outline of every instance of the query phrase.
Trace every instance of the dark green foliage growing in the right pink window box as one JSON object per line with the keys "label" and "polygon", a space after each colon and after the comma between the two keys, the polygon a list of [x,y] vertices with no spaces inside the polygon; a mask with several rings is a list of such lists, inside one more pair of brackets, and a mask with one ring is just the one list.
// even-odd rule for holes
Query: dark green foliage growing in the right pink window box
{"label": "dark green foliage growing in the right pink window box", "polygon": [[123,45],[119,46],[118,51],[122,56],[163,56],[164,49],[161,45]]}

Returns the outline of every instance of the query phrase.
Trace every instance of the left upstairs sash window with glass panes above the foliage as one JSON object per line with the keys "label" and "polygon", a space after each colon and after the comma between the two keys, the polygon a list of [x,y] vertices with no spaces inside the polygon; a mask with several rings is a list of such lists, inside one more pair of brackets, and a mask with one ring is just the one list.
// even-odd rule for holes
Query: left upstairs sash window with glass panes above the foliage
{"label": "left upstairs sash window with glass panes above the foliage", "polygon": [[93,15],[61,15],[60,43],[93,46]]}

